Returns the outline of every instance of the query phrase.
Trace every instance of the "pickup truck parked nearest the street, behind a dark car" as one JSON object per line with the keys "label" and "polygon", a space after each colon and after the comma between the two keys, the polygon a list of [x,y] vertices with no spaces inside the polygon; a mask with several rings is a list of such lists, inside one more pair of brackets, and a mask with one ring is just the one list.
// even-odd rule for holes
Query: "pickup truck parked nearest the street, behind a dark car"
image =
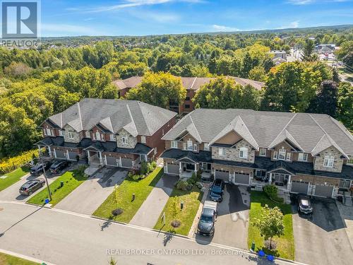
{"label": "pickup truck parked nearest the street, behind a dark car", "polygon": [[198,221],[198,233],[213,236],[215,234],[215,221],[217,219],[217,202],[205,201]]}

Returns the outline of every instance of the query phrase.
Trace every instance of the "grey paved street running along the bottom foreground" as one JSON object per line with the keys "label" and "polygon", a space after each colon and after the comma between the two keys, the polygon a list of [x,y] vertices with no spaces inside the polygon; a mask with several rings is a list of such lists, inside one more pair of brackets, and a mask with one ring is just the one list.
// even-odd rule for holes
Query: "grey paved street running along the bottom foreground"
{"label": "grey paved street running along the bottom foreground", "polygon": [[[0,219],[0,249],[58,265],[104,265],[110,254],[115,254],[119,265],[273,264],[235,249],[198,245],[191,239],[158,235],[58,209],[0,202]],[[144,249],[150,254],[140,253]],[[130,254],[133,251],[138,254]],[[201,254],[195,254],[197,251]]]}

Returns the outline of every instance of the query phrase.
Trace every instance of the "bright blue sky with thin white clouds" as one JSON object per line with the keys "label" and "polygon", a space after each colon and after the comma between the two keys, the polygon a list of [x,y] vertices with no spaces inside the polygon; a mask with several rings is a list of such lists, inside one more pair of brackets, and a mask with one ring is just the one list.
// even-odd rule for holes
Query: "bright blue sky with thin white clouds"
{"label": "bright blue sky with thin white clouds", "polygon": [[42,37],[353,24],[353,0],[42,0]]}

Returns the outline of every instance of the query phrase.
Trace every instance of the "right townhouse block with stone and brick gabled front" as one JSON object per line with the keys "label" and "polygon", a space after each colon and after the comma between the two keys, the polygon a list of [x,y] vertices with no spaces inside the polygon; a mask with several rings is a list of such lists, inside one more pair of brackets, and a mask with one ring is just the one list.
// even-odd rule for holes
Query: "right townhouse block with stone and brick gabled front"
{"label": "right townhouse block with stone and brick gabled front", "polygon": [[326,114],[198,109],[162,139],[164,172],[335,197],[353,189],[353,136]]}

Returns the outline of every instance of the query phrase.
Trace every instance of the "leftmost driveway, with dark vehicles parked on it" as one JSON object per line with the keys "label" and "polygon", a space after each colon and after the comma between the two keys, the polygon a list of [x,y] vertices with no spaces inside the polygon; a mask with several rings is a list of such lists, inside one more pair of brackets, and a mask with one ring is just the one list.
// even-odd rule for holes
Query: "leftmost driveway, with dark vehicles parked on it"
{"label": "leftmost driveway, with dark vehicles parked on it", "polygon": [[[47,176],[48,176],[49,184],[54,182],[54,180],[59,177],[59,175],[50,175],[50,174],[47,174]],[[30,199],[30,197],[34,196],[35,194],[40,192],[42,189],[47,189],[47,186],[44,186],[44,187],[38,189],[31,196],[24,196],[18,192],[20,187],[23,184],[25,184],[25,182],[28,182],[28,180],[32,180],[37,177],[38,176],[33,176],[30,174],[23,176],[18,182],[12,184],[10,187],[7,187],[6,189],[4,189],[0,192],[0,200],[1,201],[28,201],[28,199]],[[43,177],[43,175],[40,175],[39,177]]]}

